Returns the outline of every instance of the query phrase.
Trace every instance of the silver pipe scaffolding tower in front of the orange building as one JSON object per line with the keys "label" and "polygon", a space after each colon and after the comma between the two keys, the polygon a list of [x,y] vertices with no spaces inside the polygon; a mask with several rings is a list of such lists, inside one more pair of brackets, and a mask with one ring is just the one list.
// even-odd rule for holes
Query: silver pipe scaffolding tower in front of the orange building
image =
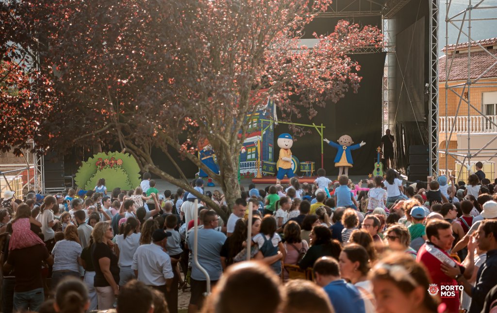
{"label": "silver pipe scaffolding tower in front of the orange building", "polygon": [[[435,1],[435,0],[433,0]],[[461,12],[458,12],[452,16],[449,15],[449,9],[452,4],[453,0],[446,0],[446,33],[445,33],[445,120],[442,121],[444,123],[444,130],[445,130],[445,149],[439,151],[440,153],[445,155],[445,170],[448,171],[448,160],[449,156],[455,160],[455,162],[461,164],[463,167],[466,167],[469,169],[471,165],[471,159],[479,156],[483,158],[488,158],[491,160],[494,157],[497,157],[497,151],[495,149],[490,149],[488,146],[494,142],[497,139],[497,135],[493,137],[488,143],[486,143],[483,147],[481,148],[472,148],[471,147],[471,133],[475,132],[474,127],[469,125],[470,117],[475,117],[474,115],[471,115],[471,109],[473,109],[474,112],[476,112],[478,117],[480,119],[485,120],[485,125],[490,125],[492,127],[497,127],[495,119],[491,119],[488,116],[486,116],[480,108],[477,108],[474,103],[473,99],[471,98],[471,90],[473,88],[479,88],[479,87],[495,87],[497,85],[497,81],[485,81],[485,82],[480,82],[479,80],[487,73],[489,72],[492,68],[494,68],[497,65],[497,57],[490,53],[481,43],[481,41],[476,41],[472,38],[472,32],[475,32],[475,24],[473,23],[474,21],[485,21],[485,20],[495,20],[497,18],[474,18],[472,17],[472,13],[475,10],[495,10],[497,6],[493,5],[485,5],[485,0],[477,0],[476,4],[472,3],[472,0],[468,0],[468,6],[466,9],[464,9]],[[490,12],[490,11],[489,11]],[[482,25],[484,23],[478,23],[480,27],[485,26]],[[448,29],[449,27],[455,27],[458,30],[458,36],[457,36],[457,41],[455,45],[450,45],[448,43]],[[467,43],[460,43],[461,38],[467,38]],[[476,78],[472,78],[471,76],[471,48],[476,48],[480,47],[484,52],[489,54],[495,61],[492,65],[489,65],[488,68],[486,68],[482,74],[480,74]],[[452,48],[454,48],[452,52]],[[449,77],[450,77],[450,72],[452,70],[452,65],[454,62],[454,58],[456,56],[456,50],[458,48],[467,48],[468,49],[468,67],[467,67],[467,78],[464,82],[458,83],[455,85],[449,85]],[[451,53],[452,52],[452,53]],[[452,137],[452,134],[454,133],[454,128],[456,126],[456,123],[452,123],[450,127],[447,125],[447,122],[449,121],[448,117],[448,95],[449,94],[455,94],[458,100],[458,105],[456,109],[456,113],[454,116],[454,121],[457,120],[458,116],[467,117],[468,121],[468,126],[467,126],[467,135],[468,135],[468,147],[467,149],[449,149],[449,143],[450,139]],[[476,101],[475,101],[476,102]],[[463,108],[461,107],[463,105]],[[467,110],[464,110],[464,107],[467,108]],[[463,112],[464,111],[464,112]],[[438,121],[438,119],[437,119]],[[449,130],[450,128],[450,130]],[[462,159],[462,161],[461,161]],[[460,175],[460,173],[459,173]]]}

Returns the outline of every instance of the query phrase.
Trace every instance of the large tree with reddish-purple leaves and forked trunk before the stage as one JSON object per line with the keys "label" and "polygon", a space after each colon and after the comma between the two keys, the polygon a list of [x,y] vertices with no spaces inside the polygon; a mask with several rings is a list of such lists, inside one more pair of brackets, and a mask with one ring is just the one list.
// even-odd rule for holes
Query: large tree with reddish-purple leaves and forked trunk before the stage
{"label": "large tree with reddish-purple leaves and forked trunk before the stage", "polygon": [[[238,154],[246,118],[257,107],[253,99],[269,95],[286,117],[311,119],[316,106],[359,87],[360,65],[347,53],[381,45],[377,28],[339,21],[315,34],[315,47],[302,47],[306,25],[330,3],[2,1],[1,18],[8,24],[0,26],[0,52],[9,60],[23,52],[38,56],[37,67],[26,68],[31,76],[37,68],[41,77],[33,90],[43,97],[29,105],[42,108],[43,119],[35,121],[36,134],[26,131],[38,148],[118,144],[141,169],[189,188],[184,176],[171,177],[150,158],[151,149],[159,148],[177,169],[170,157],[175,151],[214,178],[231,206],[240,195]],[[196,157],[201,138],[216,151],[219,175]],[[0,139],[3,149],[20,144]]]}

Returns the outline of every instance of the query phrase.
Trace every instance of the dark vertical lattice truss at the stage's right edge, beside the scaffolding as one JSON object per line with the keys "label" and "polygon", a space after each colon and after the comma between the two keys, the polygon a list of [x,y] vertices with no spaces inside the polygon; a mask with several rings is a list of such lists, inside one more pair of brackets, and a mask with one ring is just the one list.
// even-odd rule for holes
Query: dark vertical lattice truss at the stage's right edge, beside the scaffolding
{"label": "dark vertical lattice truss at the stage's right edge, beside the scaffolding", "polygon": [[429,174],[438,174],[438,13],[439,0],[430,0],[429,23]]}

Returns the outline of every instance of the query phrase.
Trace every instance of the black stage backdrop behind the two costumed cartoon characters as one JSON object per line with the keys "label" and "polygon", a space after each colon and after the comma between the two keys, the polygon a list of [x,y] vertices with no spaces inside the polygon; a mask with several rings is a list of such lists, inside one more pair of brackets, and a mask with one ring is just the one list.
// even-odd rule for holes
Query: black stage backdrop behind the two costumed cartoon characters
{"label": "black stage backdrop behind the two costumed cartoon characters", "polygon": [[[380,145],[382,136],[382,81],[385,56],[386,53],[351,55],[351,58],[361,65],[359,74],[363,77],[357,93],[349,91],[336,104],[330,102],[324,108],[317,108],[318,115],[312,120],[303,117],[292,121],[316,125],[323,123],[326,126],[324,137],[330,141],[336,141],[341,135],[348,134],[354,140],[354,144],[366,142],[363,147],[352,151],[354,167],[349,169],[349,175],[367,175],[374,169],[376,148]],[[276,126],[275,138],[283,132],[289,132],[288,125]],[[278,155],[278,151],[279,149],[275,147],[275,156]],[[324,165],[327,176],[338,175],[338,169],[334,167],[333,162],[336,152],[335,148],[324,143]],[[316,168],[320,168],[319,133],[312,128],[312,133],[297,138],[292,147],[292,154],[300,162],[314,161]]]}

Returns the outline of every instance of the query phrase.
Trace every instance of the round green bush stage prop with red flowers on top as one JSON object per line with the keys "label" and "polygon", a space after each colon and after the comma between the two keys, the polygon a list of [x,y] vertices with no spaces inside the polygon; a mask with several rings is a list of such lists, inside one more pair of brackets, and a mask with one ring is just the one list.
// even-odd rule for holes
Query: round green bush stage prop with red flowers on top
{"label": "round green bush stage prop with red flowers on top", "polygon": [[134,189],[140,186],[140,167],[128,153],[100,152],[83,162],[74,181],[83,190],[92,190],[101,178],[105,179],[107,190]]}

